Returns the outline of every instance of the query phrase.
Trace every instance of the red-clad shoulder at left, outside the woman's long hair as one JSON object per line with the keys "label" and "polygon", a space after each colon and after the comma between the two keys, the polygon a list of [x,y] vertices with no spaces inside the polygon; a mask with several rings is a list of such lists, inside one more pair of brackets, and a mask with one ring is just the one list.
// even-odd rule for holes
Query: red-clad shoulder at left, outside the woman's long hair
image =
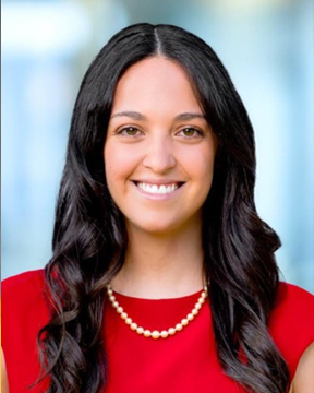
{"label": "red-clad shoulder at left, outside the woman's long hair", "polygon": [[3,279],[1,291],[1,344],[9,385],[26,392],[40,372],[38,333],[50,320],[44,270]]}

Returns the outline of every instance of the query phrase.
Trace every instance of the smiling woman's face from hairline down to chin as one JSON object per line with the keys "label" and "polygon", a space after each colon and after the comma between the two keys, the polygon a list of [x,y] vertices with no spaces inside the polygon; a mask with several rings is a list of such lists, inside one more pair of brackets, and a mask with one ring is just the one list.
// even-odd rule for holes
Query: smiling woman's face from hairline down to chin
{"label": "smiling woman's face from hairline down to chin", "polygon": [[107,184],[126,227],[165,234],[200,224],[216,147],[179,64],[154,57],[129,68],[104,151]]}

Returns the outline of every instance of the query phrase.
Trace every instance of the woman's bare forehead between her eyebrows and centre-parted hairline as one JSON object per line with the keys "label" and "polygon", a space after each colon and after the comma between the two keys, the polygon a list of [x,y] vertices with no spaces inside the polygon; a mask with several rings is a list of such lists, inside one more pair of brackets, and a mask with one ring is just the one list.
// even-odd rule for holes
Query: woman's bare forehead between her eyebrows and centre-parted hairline
{"label": "woman's bare forehead between her eyebrows and centre-parted hairline", "polygon": [[130,67],[118,82],[112,112],[138,110],[149,115],[201,110],[182,67],[164,57],[153,57]]}

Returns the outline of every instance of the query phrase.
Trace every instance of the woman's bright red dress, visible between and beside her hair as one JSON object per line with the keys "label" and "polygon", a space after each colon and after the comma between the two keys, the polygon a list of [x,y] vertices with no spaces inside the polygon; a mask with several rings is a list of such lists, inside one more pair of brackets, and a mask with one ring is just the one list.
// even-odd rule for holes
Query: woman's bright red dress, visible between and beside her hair
{"label": "woman's bright red dress, visible between and beside her hair", "polygon": [[[38,377],[36,335],[49,320],[43,287],[41,270],[2,282],[2,348],[10,393],[41,393],[47,388],[46,380],[31,391],[26,389]],[[161,331],[180,322],[200,293],[161,300],[116,297],[138,325]],[[104,393],[245,392],[218,364],[208,302],[186,327],[166,340],[145,338],[131,331],[110,302],[105,319],[109,377]],[[280,283],[269,331],[293,378],[302,353],[314,341],[314,297]]]}

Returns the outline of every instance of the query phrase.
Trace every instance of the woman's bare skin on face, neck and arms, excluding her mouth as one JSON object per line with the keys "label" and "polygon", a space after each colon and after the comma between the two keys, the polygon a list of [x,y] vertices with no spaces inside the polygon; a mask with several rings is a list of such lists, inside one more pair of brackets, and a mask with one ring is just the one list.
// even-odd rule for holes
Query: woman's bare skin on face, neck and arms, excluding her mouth
{"label": "woman's bare skin on face, neck and arms, excluding her mouth", "polygon": [[[123,111],[145,118],[114,116]],[[104,158],[130,238],[124,266],[111,283],[121,294],[171,298],[201,288],[201,209],[212,186],[217,142],[203,118],[176,119],[184,112],[202,115],[189,79],[172,61],[143,60],[118,83]],[[129,134],[117,134],[128,126]],[[203,136],[193,138],[191,127]],[[184,189],[166,201],[148,200],[132,182],[147,178],[184,181]],[[302,355],[289,393],[312,393],[313,369],[314,343]],[[1,392],[9,393],[2,349]]]}

